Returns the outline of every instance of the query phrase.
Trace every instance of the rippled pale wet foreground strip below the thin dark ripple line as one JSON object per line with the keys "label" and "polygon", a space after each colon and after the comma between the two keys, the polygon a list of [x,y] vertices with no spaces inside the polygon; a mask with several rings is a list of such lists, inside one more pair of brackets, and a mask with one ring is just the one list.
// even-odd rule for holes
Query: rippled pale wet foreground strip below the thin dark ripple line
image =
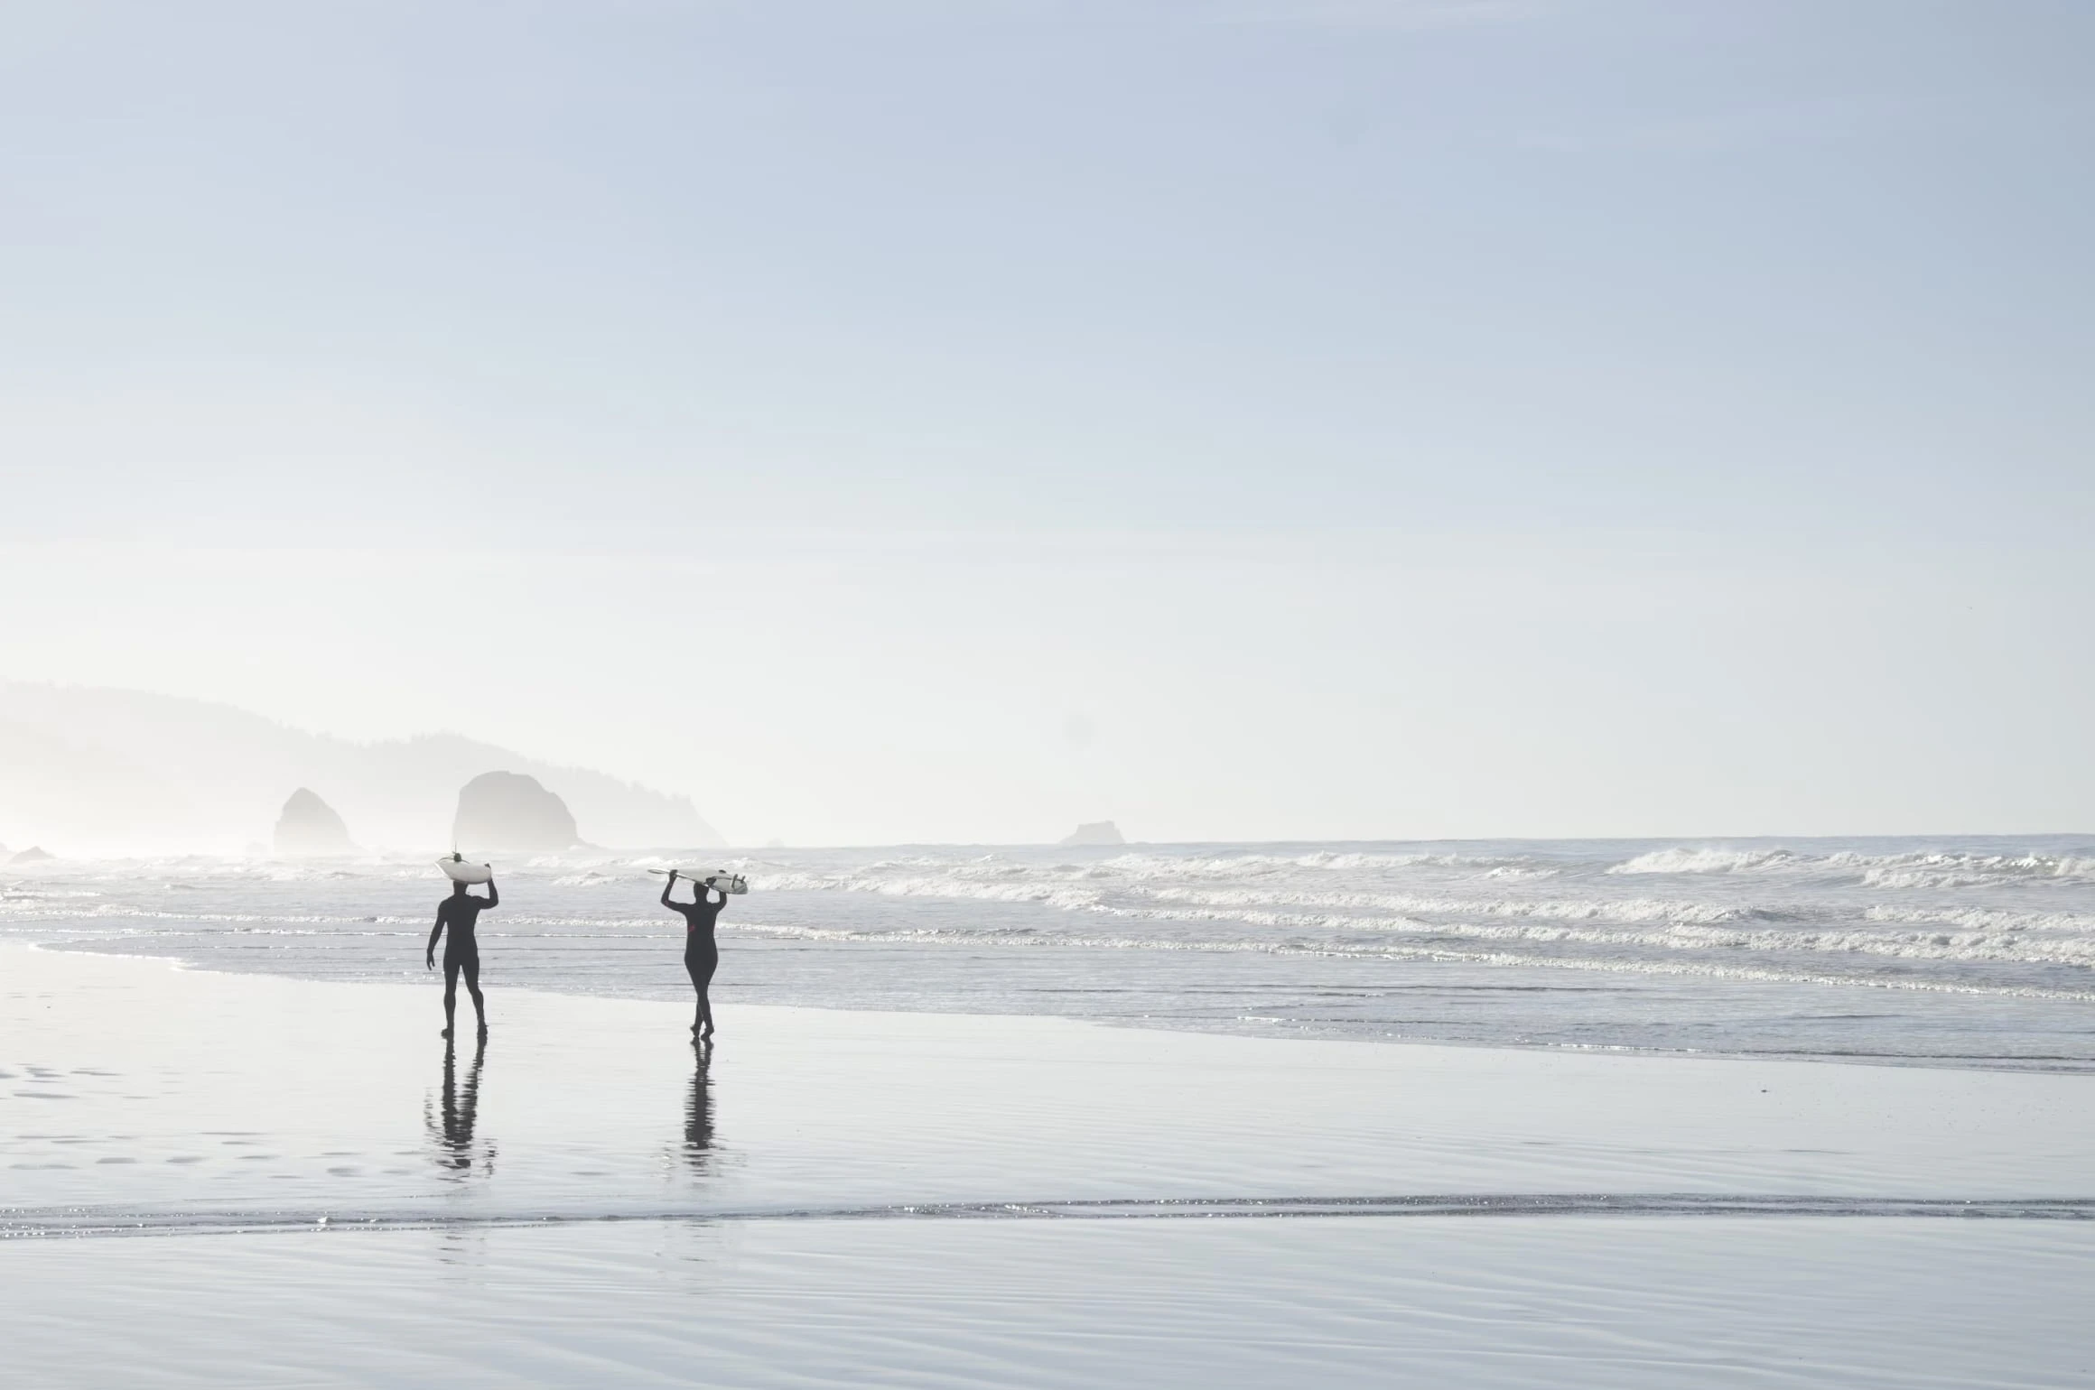
{"label": "rippled pale wet foreground strip below the thin dark ripple line", "polygon": [[2087,1384],[2095,1227],[629,1223],[0,1264],[38,1386],[2034,1388]]}

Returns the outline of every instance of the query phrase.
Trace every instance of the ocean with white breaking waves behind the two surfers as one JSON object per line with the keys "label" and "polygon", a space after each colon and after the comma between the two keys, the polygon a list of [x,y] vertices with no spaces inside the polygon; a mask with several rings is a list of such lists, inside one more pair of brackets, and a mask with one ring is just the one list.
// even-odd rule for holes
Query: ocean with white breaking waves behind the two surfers
{"label": "ocean with white breaking waves behind the two surfers", "polygon": [[[0,934],[423,978],[434,856],[0,867]],[[2095,837],[572,852],[486,986],[685,999],[647,869],[727,867],[714,999],[1265,1036],[2095,1070]]]}

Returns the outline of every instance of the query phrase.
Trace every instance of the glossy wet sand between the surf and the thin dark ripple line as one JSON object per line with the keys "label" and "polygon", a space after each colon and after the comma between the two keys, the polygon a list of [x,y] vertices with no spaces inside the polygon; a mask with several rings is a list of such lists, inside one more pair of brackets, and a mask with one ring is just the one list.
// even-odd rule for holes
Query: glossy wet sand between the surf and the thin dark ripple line
{"label": "glossy wet sand between the surf and the thin dark ripple line", "polygon": [[0,946],[0,1235],[608,1218],[2087,1220],[2095,1080],[1138,1032]]}

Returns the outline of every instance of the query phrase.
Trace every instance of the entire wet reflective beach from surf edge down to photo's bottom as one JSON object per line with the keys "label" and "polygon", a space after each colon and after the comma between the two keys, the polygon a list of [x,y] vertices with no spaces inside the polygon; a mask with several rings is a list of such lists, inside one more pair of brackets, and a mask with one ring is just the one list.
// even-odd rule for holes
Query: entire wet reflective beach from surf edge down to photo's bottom
{"label": "entire wet reflective beach from surf edge down to photo's bottom", "polygon": [[2078,1074],[0,948],[25,1384],[2080,1384]]}

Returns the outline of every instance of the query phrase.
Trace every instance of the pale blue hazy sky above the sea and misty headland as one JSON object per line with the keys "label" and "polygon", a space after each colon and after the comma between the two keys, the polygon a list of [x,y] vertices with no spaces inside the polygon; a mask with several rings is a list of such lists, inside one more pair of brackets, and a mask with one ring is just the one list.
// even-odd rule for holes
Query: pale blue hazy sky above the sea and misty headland
{"label": "pale blue hazy sky above the sea and misty headland", "polygon": [[2095,829],[2091,54],[0,2],[0,676],[742,844]]}

